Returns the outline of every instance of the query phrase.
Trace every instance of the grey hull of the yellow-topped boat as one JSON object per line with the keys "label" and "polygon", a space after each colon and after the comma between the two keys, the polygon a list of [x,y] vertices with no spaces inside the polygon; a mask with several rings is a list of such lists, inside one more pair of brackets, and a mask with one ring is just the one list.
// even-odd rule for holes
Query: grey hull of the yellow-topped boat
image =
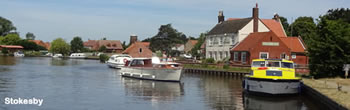
{"label": "grey hull of the yellow-topped boat", "polygon": [[271,95],[297,94],[301,91],[300,80],[273,80],[245,77],[243,88],[246,92]]}

